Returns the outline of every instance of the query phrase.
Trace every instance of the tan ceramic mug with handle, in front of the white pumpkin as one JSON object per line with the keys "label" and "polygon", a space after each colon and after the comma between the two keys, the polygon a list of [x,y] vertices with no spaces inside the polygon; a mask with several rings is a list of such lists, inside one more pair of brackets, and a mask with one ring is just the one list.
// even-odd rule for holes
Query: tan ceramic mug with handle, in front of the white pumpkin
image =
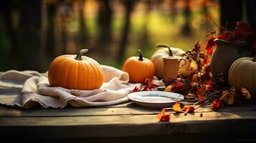
{"label": "tan ceramic mug with handle, in front of the white pumpkin", "polygon": [[[186,64],[187,59],[179,58],[176,56],[163,56],[163,82],[170,84],[169,82],[177,79],[178,71],[181,66]],[[181,61],[184,61],[181,64]]]}

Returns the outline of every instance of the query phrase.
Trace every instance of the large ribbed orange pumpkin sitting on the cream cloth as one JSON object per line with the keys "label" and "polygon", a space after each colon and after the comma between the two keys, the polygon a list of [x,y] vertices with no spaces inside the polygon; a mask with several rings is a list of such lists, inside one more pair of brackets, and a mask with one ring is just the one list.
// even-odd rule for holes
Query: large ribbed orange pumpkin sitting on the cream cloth
{"label": "large ribbed orange pumpkin sitting on the cream cloth", "polygon": [[98,89],[103,84],[103,69],[94,59],[82,56],[87,49],[77,55],[58,56],[49,66],[48,78],[51,87],[66,89]]}

